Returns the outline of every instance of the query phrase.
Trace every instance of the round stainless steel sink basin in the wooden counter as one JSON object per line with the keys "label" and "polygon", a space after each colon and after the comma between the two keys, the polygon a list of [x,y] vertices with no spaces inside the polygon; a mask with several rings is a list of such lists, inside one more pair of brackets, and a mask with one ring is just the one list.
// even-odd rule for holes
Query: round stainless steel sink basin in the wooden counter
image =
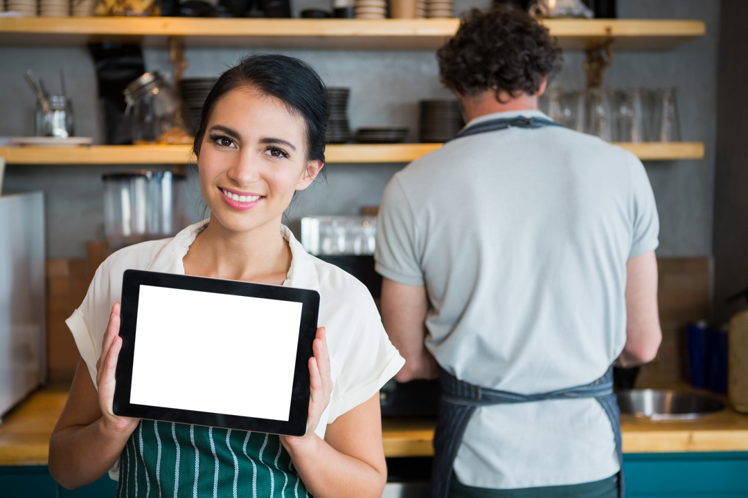
{"label": "round stainless steel sink basin in the wooden counter", "polygon": [[676,390],[620,390],[616,396],[621,414],[652,420],[688,420],[725,409],[719,399]]}

